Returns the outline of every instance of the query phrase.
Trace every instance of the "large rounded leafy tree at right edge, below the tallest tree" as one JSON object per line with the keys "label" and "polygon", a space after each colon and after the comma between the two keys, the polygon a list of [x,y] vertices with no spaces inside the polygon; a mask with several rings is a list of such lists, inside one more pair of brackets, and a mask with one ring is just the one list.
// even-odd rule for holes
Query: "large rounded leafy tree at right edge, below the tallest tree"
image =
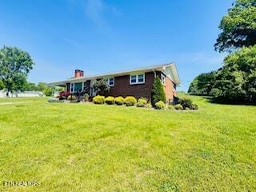
{"label": "large rounded leafy tree at right edge, below the tallest tree", "polygon": [[256,104],[256,46],[244,47],[224,60],[212,94],[226,102]]}

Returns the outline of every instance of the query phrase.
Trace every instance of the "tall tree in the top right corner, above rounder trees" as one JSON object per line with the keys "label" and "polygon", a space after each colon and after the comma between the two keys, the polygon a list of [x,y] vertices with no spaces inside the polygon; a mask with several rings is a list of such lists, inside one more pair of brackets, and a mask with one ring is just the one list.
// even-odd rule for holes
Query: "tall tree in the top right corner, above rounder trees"
{"label": "tall tree in the top right corner, above rounder trees", "polygon": [[256,1],[237,0],[222,18],[215,50],[231,51],[256,44]]}

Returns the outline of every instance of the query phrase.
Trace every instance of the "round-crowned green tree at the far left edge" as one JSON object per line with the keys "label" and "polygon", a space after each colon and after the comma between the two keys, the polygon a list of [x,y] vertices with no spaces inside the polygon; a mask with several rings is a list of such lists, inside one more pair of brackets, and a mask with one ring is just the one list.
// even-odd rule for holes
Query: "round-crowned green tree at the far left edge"
{"label": "round-crowned green tree at the far left edge", "polygon": [[0,50],[0,79],[6,87],[7,96],[14,90],[23,90],[33,65],[30,54],[23,50],[12,46],[4,46]]}

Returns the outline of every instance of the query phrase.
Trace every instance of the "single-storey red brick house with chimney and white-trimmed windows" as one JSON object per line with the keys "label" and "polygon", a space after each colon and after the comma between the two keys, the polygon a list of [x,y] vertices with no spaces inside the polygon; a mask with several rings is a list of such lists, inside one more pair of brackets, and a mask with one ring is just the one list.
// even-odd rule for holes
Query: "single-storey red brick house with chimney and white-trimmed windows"
{"label": "single-storey red brick house with chimney and white-trimmed windows", "polygon": [[96,94],[92,87],[94,81],[100,78],[105,78],[110,86],[108,95],[114,97],[144,97],[150,100],[154,78],[157,76],[161,79],[164,86],[166,102],[173,102],[176,94],[176,86],[180,84],[178,70],[174,63],[93,76],[84,76],[82,70],[75,70],[74,78],[68,78],[61,82],[52,82],[49,83],[49,85],[65,86],[66,91],[71,94],[78,91],[84,91],[90,96],[94,96]]}

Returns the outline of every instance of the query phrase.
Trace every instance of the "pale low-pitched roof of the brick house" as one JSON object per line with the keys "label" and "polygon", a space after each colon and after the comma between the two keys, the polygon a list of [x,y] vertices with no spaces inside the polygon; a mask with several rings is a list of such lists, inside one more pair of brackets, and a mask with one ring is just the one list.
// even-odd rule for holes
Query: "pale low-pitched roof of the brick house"
{"label": "pale low-pitched roof of the brick house", "polygon": [[[127,75],[127,74],[132,74],[136,72],[150,72],[150,71],[166,71],[170,70],[170,79],[176,83],[180,84],[180,79],[178,76],[178,70],[174,62],[162,64],[162,65],[157,65],[157,66],[146,66],[146,67],[141,67],[133,70],[122,70],[122,71],[117,71],[117,72],[110,72],[110,73],[105,73],[105,74],[94,74],[86,77],[79,77],[79,78],[67,78],[63,81],[58,81],[58,82],[50,82],[48,85],[50,86],[61,86],[65,85],[67,82],[81,82],[81,81],[86,81],[86,80],[91,80],[91,79],[97,79],[97,78],[104,78],[104,77],[118,77],[122,75]],[[168,75],[167,75],[168,76]]]}

